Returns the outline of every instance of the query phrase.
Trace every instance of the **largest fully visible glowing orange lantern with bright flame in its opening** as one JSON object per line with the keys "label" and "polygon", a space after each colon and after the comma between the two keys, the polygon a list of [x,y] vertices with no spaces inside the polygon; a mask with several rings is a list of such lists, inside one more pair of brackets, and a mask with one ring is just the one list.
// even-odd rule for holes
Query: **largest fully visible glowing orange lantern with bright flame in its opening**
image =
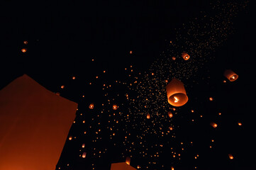
{"label": "largest fully visible glowing orange lantern with bright flame in its opening", "polygon": [[168,103],[172,106],[183,106],[189,100],[184,84],[178,79],[172,79],[172,81],[167,84],[166,91]]}

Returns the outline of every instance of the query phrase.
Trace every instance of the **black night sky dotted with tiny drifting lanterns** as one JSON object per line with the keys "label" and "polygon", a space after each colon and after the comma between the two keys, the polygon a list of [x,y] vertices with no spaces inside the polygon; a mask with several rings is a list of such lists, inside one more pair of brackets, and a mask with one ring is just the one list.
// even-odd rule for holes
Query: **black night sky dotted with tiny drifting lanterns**
{"label": "black night sky dotted with tiny drifting lanterns", "polygon": [[[255,169],[255,7],[4,1],[0,89],[28,74],[78,103],[56,169],[105,170],[126,157],[136,169]],[[239,78],[228,81],[226,69]],[[167,102],[173,78],[184,83],[184,106]]]}

